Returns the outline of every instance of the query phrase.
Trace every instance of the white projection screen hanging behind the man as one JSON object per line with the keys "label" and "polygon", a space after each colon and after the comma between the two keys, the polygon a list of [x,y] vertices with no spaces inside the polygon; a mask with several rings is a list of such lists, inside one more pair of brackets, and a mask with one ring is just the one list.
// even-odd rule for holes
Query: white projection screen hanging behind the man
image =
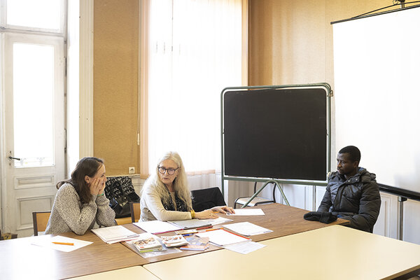
{"label": "white projection screen hanging behind the man", "polygon": [[[362,153],[378,183],[420,192],[420,8],[337,22],[337,151]],[[337,153],[336,151],[336,153]]]}

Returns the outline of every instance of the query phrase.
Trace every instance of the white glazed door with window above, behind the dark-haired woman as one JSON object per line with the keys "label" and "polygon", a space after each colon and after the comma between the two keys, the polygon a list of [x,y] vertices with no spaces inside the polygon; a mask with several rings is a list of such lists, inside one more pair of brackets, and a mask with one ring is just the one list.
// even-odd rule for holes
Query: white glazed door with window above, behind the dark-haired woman
{"label": "white glazed door with window above, behind the dark-haired woman", "polygon": [[0,224],[25,237],[64,179],[66,1],[0,2]]}

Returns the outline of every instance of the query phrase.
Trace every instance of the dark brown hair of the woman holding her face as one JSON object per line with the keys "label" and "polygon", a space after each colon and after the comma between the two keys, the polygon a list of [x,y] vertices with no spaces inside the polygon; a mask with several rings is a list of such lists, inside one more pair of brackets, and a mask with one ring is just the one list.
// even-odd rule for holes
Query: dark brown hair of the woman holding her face
{"label": "dark brown hair of the woman holding her face", "polygon": [[85,176],[93,177],[102,165],[104,165],[104,160],[101,160],[100,158],[82,158],[77,162],[73,172],[71,172],[71,179],[59,181],[57,183],[57,189],[65,183],[70,183],[79,195],[80,202],[82,202],[82,204],[89,203],[92,199],[92,195],[90,194],[90,188],[85,181]]}

